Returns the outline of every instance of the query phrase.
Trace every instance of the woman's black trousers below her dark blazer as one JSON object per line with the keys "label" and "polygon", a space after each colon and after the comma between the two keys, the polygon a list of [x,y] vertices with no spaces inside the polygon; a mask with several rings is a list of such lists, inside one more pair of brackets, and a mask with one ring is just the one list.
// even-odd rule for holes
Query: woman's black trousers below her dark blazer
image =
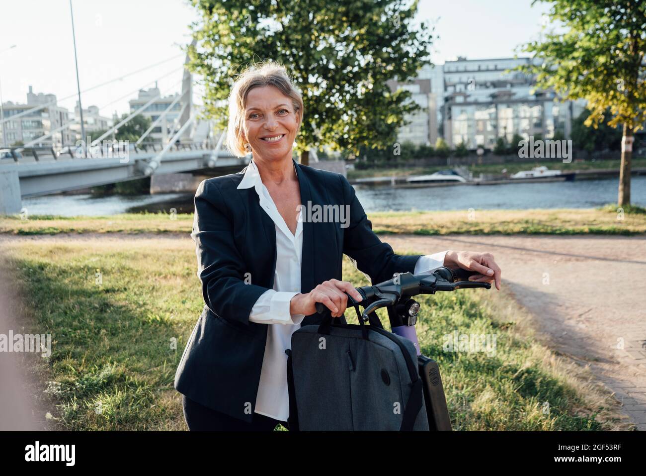
{"label": "woman's black trousers below her dark blazer", "polygon": [[273,431],[279,423],[289,429],[287,422],[260,413],[253,414],[251,423],[205,407],[183,395],[184,419],[190,431]]}

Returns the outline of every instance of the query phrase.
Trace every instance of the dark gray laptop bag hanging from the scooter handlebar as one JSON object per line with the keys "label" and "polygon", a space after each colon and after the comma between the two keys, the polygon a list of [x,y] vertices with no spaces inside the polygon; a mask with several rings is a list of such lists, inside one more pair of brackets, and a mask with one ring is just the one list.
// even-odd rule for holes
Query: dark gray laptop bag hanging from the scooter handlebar
{"label": "dark gray laptop bag hanging from the scooter handlebar", "polygon": [[[356,307],[357,315],[359,308]],[[371,325],[306,325],[287,349],[290,431],[429,431],[412,341]]]}

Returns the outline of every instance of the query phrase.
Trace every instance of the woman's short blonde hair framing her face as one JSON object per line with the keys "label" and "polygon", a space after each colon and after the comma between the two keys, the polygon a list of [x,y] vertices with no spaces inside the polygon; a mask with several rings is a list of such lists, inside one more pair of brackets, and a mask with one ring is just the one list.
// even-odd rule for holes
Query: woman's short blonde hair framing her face
{"label": "woman's short blonde hair framing her face", "polygon": [[303,98],[294,87],[283,65],[275,61],[256,63],[247,67],[233,84],[229,93],[229,124],[227,126],[227,147],[236,157],[244,157],[249,153],[245,148],[244,138],[244,111],[247,94],[255,87],[273,86],[288,98],[298,114],[298,127],[300,131],[303,123]]}

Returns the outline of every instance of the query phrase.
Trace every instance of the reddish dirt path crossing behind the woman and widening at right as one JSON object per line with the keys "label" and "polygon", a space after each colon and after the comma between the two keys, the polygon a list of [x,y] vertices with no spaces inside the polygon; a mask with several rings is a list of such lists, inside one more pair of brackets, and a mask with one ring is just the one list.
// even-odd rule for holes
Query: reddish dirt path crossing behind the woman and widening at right
{"label": "reddish dirt path crossing behind the woman and widening at right", "polygon": [[[0,235],[4,241],[184,241],[188,233]],[[380,235],[401,252],[488,251],[503,270],[503,290],[535,316],[541,338],[590,365],[646,430],[646,237]]]}

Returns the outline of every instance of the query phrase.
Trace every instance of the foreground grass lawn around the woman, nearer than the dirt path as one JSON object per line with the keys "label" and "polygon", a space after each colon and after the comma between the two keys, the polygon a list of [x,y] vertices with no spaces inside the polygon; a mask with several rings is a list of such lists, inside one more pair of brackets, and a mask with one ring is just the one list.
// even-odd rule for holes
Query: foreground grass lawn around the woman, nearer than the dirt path
{"label": "foreground grass lawn around the woman, nearer than the dirt path", "polygon": [[[158,223],[110,226],[132,230]],[[104,225],[105,220],[99,226]],[[36,240],[5,242],[4,250],[30,332],[52,334],[52,355],[37,369],[47,375],[43,396],[51,429],[185,429],[173,379],[203,306],[193,241],[163,235]],[[347,259],[344,279],[367,284]],[[459,290],[420,301],[422,352],[439,362],[454,429],[578,431],[625,425],[616,402],[592,384],[589,371],[537,343],[523,312],[505,294]],[[388,328],[385,310],[380,312]],[[355,321],[351,312],[346,316]],[[495,353],[444,351],[444,334],[455,330],[495,335]]]}

